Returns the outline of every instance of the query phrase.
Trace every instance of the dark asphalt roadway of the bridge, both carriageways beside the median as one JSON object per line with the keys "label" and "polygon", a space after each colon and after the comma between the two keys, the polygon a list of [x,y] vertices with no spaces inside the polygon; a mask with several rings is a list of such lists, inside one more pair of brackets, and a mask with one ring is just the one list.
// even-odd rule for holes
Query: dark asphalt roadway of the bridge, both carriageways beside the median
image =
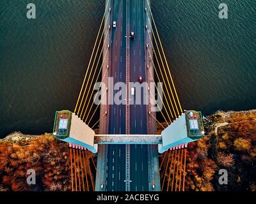
{"label": "dark asphalt roadway of the bridge, both carriageways beside the median", "polygon": [[[126,36],[127,1],[113,0],[111,25],[110,77],[125,83],[126,38],[130,38],[130,82],[145,81],[145,11],[144,1],[129,0],[129,27],[135,38]],[[116,27],[113,27],[116,21]],[[129,90],[131,91],[131,90]],[[131,96],[130,97],[135,97]],[[143,97],[143,92],[141,93]],[[135,98],[134,98],[135,99]],[[109,105],[109,134],[125,134],[125,105]],[[147,134],[146,105],[130,105],[130,133]],[[125,180],[125,145],[108,145],[106,191],[148,191],[148,145],[130,145],[130,181]]]}

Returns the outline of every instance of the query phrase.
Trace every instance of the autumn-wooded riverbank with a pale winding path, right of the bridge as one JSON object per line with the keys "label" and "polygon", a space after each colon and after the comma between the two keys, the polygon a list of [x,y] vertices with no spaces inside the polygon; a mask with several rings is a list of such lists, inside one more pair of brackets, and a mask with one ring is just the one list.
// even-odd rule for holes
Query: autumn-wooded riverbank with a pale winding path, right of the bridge
{"label": "autumn-wooded riverbank with a pale winding path, right of the bridge", "polygon": [[[188,145],[186,191],[255,191],[256,110],[219,111],[205,117],[204,126],[206,136]],[[221,169],[227,185],[218,182]]]}

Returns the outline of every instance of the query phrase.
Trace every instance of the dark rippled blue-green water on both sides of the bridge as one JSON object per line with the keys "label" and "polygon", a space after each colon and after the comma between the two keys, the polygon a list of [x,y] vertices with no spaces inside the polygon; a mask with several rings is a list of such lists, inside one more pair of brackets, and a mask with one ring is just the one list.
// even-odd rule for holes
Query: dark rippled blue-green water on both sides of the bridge
{"label": "dark rippled blue-green water on both sides of the bridge", "polygon": [[[104,1],[0,3],[0,137],[52,131],[55,110],[74,110],[104,12]],[[152,11],[184,109],[256,108],[256,2],[152,1]]]}

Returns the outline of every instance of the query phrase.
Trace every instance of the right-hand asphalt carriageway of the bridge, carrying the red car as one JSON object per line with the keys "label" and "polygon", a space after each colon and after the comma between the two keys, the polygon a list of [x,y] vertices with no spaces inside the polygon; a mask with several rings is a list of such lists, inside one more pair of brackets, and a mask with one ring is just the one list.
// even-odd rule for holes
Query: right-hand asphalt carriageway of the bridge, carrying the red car
{"label": "right-hand asphalt carriageway of the bridge, carrying the red car", "polygon": [[[134,40],[130,43],[130,82],[138,82],[142,77],[145,82],[145,11],[144,1],[129,0],[130,31],[134,31]],[[135,92],[139,91],[135,87]],[[147,92],[147,89],[145,90]],[[147,94],[147,93],[146,93]],[[147,107],[143,105],[143,90],[141,103],[130,106],[130,133],[147,135]],[[130,179],[131,191],[148,191],[148,145],[131,145]]]}

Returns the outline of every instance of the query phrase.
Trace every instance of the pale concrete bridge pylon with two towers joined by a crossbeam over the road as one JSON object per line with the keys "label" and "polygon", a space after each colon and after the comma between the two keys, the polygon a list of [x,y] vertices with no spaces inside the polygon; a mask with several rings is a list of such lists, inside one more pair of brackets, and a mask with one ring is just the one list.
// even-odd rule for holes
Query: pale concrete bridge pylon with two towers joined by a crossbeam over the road
{"label": "pale concrete bridge pylon with two towers joined by a crossbeam over the road", "polygon": [[168,149],[187,147],[189,142],[202,138],[204,125],[201,112],[189,110],[165,128],[161,135],[95,135],[95,131],[75,113],[61,110],[55,115],[53,135],[70,143],[71,147],[88,149],[93,153],[97,153],[98,144],[153,144],[158,145],[158,152],[162,154]]}

